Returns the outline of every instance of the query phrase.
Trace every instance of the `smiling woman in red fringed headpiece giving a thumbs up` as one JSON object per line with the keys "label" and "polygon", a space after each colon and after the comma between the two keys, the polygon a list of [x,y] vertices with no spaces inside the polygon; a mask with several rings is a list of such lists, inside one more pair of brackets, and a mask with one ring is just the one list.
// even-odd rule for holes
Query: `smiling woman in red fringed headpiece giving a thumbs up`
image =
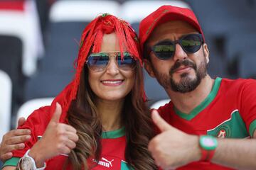
{"label": "smiling woman in red fringed headpiece giving a thumbs up", "polygon": [[147,150],[154,134],[138,49],[137,35],[125,21],[103,14],[89,23],[75,78],[51,106],[34,111],[21,126],[32,138],[14,151],[16,164],[22,157],[18,169],[28,169],[31,157],[42,169],[156,169]]}

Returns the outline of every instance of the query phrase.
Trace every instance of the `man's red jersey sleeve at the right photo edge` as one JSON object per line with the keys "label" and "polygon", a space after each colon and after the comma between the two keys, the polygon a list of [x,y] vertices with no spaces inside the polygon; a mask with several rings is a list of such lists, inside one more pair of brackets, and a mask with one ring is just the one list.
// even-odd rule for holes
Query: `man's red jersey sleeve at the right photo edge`
{"label": "man's red jersey sleeve at the right photo edge", "polygon": [[256,81],[248,79],[242,88],[241,115],[250,136],[256,130]]}

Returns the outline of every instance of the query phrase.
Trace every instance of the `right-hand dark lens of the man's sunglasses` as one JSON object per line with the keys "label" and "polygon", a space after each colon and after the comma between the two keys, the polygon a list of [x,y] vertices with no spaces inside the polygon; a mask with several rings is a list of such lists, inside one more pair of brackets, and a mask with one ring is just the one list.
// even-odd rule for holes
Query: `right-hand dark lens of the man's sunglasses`
{"label": "right-hand dark lens of the man's sunglasses", "polygon": [[201,48],[202,40],[200,35],[187,35],[186,37],[182,38],[181,45],[183,50],[188,53],[193,53],[197,52]]}

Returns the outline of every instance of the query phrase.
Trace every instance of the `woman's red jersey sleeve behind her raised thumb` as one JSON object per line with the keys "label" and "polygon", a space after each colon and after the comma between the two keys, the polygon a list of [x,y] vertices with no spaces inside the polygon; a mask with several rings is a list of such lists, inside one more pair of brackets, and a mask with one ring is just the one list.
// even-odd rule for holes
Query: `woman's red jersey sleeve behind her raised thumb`
{"label": "woman's red jersey sleeve behind her raised thumb", "polygon": [[50,106],[45,106],[33,111],[31,115],[28,116],[26,123],[19,129],[30,129],[31,139],[25,142],[24,149],[18,149],[13,152],[14,157],[23,157],[28,149],[31,149],[33,145],[38,141],[38,139],[43,135],[46,127],[50,120]]}

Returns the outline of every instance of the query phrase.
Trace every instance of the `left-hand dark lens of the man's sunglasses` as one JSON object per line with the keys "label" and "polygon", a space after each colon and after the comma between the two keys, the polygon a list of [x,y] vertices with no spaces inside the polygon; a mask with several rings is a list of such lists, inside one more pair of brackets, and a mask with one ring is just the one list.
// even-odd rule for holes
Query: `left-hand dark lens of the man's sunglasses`
{"label": "left-hand dark lens of the man's sunglasses", "polygon": [[171,41],[163,41],[152,47],[152,51],[161,60],[168,60],[174,55],[174,44]]}

